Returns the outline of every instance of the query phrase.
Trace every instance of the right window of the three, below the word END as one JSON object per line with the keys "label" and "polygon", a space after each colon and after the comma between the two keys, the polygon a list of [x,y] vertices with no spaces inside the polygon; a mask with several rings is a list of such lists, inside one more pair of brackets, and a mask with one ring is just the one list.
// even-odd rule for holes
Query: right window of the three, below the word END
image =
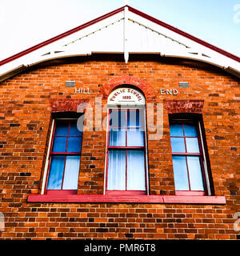
{"label": "right window of the three, below the word END", "polygon": [[172,149],[176,194],[210,194],[206,156],[202,145],[201,126],[198,121],[171,120]]}

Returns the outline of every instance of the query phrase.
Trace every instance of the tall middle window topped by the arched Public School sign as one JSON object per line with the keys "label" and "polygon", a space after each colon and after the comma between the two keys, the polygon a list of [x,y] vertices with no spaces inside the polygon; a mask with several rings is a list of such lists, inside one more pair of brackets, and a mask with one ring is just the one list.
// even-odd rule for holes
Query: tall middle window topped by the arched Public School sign
{"label": "tall middle window topped by the arched Public School sign", "polygon": [[[126,106],[128,100],[134,102],[133,95],[138,100],[139,95],[143,98],[136,92],[134,90],[132,95],[122,93],[120,99],[125,101],[122,108],[112,106],[109,109],[106,194],[147,193],[145,109],[140,105]],[[112,96],[109,98],[111,100]]]}

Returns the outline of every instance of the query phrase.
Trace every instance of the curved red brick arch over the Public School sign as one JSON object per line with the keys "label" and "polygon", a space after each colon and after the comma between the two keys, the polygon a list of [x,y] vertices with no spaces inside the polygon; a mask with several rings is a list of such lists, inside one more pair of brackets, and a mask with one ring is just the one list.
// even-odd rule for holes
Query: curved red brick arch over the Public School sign
{"label": "curved red brick arch over the Public School sign", "polygon": [[143,81],[140,78],[135,78],[127,75],[112,78],[108,82],[105,82],[100,88],[102,97],[107,98],[110,92],[112,92],[118,86],[122,85],[131,85],[135,86],[138,90],[142,90],[142,93],[145,95],[147,102],[154,101],[156,98],[154,94],[154,89],[147,82]]}

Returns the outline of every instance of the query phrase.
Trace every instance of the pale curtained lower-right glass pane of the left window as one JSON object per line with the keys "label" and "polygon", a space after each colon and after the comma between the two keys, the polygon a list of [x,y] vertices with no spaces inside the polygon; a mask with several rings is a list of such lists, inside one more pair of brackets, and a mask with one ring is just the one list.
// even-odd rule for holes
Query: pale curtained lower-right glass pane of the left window
{"label": "pale curtained lower-right glass pane of the left window", "polygon": [[62,190],[78,190],[80,157],[67,156]]}

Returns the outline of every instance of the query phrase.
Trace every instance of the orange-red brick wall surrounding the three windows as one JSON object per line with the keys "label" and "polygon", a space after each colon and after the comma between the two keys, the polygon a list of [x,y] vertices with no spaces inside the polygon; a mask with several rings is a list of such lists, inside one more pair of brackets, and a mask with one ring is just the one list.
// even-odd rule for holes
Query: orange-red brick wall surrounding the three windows
{"label": "orange-red brick wall surrounding the three windows", "polygon": [[[234,230],[234,214],[240,212],[239,79],[199,62],[130,57],[128,64],[117,55],[68,58],[0,83],[2,239],[239,238]],[[79,100],[94,106],[96,96],[103,97],[104,105],[124,79],[142,90],[146,102],[165,106],[163,136],[148,140],[150,194],[174,194],[168,114],[179,109],[174,100],[184,100],[202,111],[214,193],[226,196],[226,205],[27,202],[42,188],[51,112],[74,110]],[[73,87],[65,86],[69,80],[92,94],[74,94]],[[182,81],[190,87],[179,88]],[[160,93],[173,88],[178,95]],[[78,194],[103,193],[105,150],[106,131],[84,132]]]}

